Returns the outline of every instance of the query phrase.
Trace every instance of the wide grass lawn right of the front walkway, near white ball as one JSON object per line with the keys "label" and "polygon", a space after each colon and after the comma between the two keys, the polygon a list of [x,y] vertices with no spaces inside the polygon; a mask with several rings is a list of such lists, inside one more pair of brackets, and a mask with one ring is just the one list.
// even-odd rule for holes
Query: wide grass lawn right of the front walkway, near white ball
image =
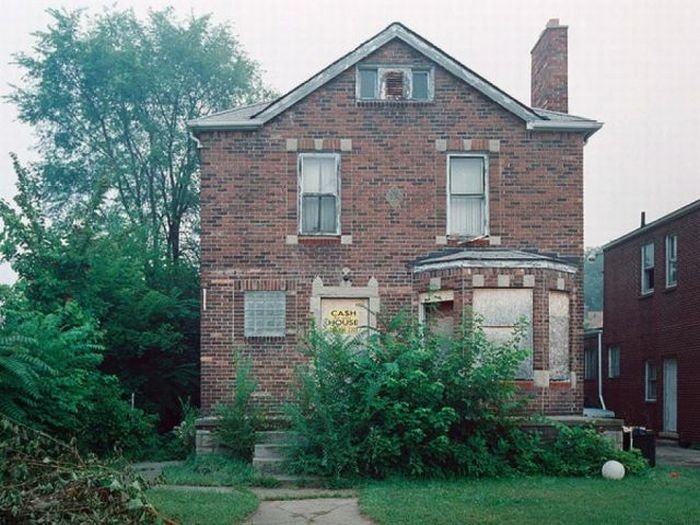
{"label": "wide grass lawn right of the front walkway, near white ball", "polygon": [[360,508],[381,525],[673,525],[698,523],[699,493],[699,470],[656,468],[622,481],[387,481],[363,488]]}

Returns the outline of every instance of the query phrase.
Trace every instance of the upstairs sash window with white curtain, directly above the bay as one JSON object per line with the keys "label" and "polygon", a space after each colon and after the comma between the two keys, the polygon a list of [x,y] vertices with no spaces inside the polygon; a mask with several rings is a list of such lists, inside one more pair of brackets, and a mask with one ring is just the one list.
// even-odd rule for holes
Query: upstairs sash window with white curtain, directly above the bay
{"label": "upstairs sash window with white curtain, directly above the bay", "polygon": [[450,155],[447,164],[447,234],[485,235],[488,229],[486,157]]}

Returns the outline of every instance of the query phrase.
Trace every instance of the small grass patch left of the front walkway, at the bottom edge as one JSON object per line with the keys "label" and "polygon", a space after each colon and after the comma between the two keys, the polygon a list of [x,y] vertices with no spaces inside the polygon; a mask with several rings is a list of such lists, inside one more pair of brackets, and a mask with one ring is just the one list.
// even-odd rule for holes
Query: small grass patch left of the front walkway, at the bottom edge
{"label": "small grass patch left of the front walkway, at the bottom edge", "polygon": [[157,487],[148,491],[148,500],[183,525],[240,523],[258,506],[255,494],[245,489],[216,492]]}

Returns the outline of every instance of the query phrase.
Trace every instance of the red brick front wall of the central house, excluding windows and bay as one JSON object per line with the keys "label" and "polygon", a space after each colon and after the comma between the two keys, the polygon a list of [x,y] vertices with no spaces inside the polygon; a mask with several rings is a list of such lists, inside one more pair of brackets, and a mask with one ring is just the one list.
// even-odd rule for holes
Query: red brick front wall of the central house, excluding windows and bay
{"label": "red brick front wall of the central house, excluding windows and bay", "polygon": [[[369,56],[368,63],[428,64],[398,41]],[[535,248],[580,260],[583,252],[581,135],[533,133],[517,117],[435,66],[435,97],[429,103],[355,100],[355,68],[255,131],[200,132],[202,161],[202,286],[208,305],[202,312],[202,403],[210,408],[227,395],[233,374],[232,348],[256,357],[262,396],[285,393],[298,335],[309,312],[311,281],[320,276],[338,285],[341,268],[352,270],[356,286],[374,276],[381,305],[390,310],[410,304],[409,261],[444,246],[447,154],[461,152],[464,139],[489,158],[490,231],[503,247]],[[340,152],[341,229],[352,244],[297,235],[297,156]],[[299,139],[299,151],[286,151],[286,139]],[[301,140],[304,139],[304,140]],[[437,139],[448,151],[437,151]],[[500,151],[488,152],[489,140]],[[392,207],[387,192],[398,190]],[[294,290],[288,302],[288,337],[255,342],[242,336],[240,280],[272,279]],[[280,285],[281,286],[281,285]],[[574,285],[580,290],[580,274]],[[571,306],[572,355],[580,361],[578,327],[582,307]],[[579,365],[577,365],[579,366]],[[270,368],[274,374],[270,375]]]}

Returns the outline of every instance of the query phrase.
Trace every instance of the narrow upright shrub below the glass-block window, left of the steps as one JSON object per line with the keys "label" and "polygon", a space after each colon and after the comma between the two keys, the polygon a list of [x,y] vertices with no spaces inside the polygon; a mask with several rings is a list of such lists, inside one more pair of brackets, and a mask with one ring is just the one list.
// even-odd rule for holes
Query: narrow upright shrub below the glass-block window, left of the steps
{"label": "narrow upright shrub below the glass-block window, left of the steps", "polygon": [[252,404],[252,394],[257,382],[251,373],[249,359],[235,358],[236,379],[230,403],[217,405],[215,413],[219,422],[214,438],[223,451],[243,461],[253,459],[255,431],[259,426],[259,413]]}

